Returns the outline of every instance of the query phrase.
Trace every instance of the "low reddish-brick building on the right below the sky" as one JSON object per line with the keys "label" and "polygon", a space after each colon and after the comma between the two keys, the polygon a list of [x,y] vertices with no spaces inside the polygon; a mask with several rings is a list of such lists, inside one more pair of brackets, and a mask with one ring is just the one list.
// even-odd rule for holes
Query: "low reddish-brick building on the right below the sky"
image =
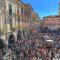
{"label": "low reddish-brick building on the right below the sky", "polygon": [[44,17],[43,27],[48,27],[51,30],[60,29],[60,15]]}

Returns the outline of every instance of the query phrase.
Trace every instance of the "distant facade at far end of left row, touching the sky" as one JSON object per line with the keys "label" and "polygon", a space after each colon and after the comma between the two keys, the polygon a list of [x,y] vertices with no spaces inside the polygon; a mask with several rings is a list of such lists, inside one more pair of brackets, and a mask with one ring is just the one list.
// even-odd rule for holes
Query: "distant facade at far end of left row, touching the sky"
{"label": "distant facade at far end of left row, touching the sky", "polygon": [[40,17],[38,16],[37,13],[32,11],[32,20],[31,20],[31,26],[35,28],[36,26],[41,26]]}

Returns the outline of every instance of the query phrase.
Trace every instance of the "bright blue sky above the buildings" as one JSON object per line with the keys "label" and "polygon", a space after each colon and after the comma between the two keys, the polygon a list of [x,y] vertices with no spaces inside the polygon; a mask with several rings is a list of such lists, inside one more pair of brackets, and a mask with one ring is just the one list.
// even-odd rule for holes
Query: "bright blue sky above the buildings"
{"label": "bright blue sky above the buildings", "polygon": [[30,3],[33,10],[38,13],[40,18],[49,15],[58,14],[58,1],[59,0],[21,0],[24,3]]}

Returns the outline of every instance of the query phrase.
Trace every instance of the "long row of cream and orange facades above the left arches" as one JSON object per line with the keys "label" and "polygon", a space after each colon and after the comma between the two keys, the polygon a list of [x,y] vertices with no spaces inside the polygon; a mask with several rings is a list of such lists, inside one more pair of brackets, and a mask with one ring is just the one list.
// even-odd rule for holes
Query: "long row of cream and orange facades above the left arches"
{"label": "long row of cream and orange facades above the left arches", "polygon": [[[10,34],[17,39],[17,32],[27,34],[32,29],[32,7],[19,0],[0,0],[0,37],[8,44]],[[37,21],[36,21],[37,22]],[[40,24],[40,23],[39,23]]]}

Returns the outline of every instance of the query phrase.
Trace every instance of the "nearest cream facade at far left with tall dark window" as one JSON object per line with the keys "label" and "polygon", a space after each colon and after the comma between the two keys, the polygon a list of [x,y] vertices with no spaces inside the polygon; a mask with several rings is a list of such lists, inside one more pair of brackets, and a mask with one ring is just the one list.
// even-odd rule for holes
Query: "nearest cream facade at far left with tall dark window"
{"label": "nearest cream facade at far left with tall dark window", "polygon": [[[15,29],[16,4],[14,0],[0,0],[0,37],[7,42],[8,36]],[[8,42],[7,42],[8,43]]]}

